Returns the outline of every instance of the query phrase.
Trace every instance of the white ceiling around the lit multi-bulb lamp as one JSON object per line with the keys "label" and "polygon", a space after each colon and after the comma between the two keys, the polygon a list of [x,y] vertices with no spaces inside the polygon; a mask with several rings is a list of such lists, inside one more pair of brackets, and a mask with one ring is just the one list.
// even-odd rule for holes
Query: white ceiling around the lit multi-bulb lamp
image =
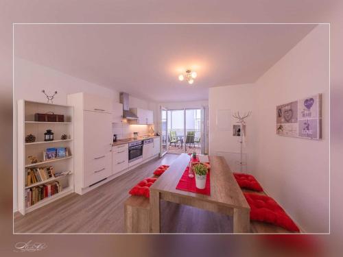
{"label": "white ceiling around the lit multi-bulb lamp", "polygon": [[[255,82],[314,26],[15,25],[14,54],[135,97],[196,101]],[[187,68],[192,86],[178,81]]]}

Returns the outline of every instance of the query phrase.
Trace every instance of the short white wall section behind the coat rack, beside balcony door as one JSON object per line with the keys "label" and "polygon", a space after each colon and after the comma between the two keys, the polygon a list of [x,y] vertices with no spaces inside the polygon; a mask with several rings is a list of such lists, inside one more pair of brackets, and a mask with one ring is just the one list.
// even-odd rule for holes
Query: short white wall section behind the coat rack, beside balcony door
{"label": "short white wall section behind the coat rack, beside balcony door", "polygon": [[[239,125],[237,120],[232,117],[235,112],[239,114],[248,113],[255,109],[255,85],[241,84],[235,86],[220,86],[209,89],[209,154],[224,156],[232,171],[240,171],[241,144],[240,137],[233,136],[233,125]],[[217,117],[220,110],[230,110],[230,128],[224,130],[217,126],[217,119],[223,119],[222,115]],[[251,173],[252,171],[252,140],[254,137],[254,127],[251,117],[246,119],[246,136],[244,137],[244,162],[248,165],[243,167],[243,171]]]}

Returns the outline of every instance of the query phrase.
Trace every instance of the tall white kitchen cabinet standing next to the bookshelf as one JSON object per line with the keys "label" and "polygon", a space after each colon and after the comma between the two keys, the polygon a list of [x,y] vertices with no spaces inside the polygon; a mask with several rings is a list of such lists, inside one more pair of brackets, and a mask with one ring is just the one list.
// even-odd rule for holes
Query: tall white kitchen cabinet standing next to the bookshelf
{"label": "tall white kitchen cabinet standing next to the bookshelf", "polygon": [[68,95],[67,101],[74,106],[75,192],[82,194],[112,175],[112,103],[84,93]]}

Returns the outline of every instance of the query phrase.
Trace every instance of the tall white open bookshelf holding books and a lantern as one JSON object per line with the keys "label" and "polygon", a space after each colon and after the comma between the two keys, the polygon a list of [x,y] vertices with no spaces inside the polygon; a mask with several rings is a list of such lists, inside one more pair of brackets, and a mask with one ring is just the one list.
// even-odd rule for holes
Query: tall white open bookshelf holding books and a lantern
{"label": "tall white open bookshelf holding books and a lantern", "polygon": [[[63,114],[64,122],[34,121],[34,114],[47,112]],[[18,206],[19,212],[23,215],[74,192],[73,112],[73,106],[41,103],[24,99],[18,101]],[[54,132],[54,140],[44,140],[44,133],[47,130]],[[36,136],[35,142],[25,143],[25,137],[28,134]],[[60,139],[62,134],[67,134],[68,138],[66,140]],[[49,147],[67,147],[69,156],[44,160],[43,151]],[[38,162],[30,163],[27,156],[35,156]],[[54,167],[56,172],[70,171],[70,173],[30,184],[29,186],[25,184],[27,169],[46,166]],[[60,193],[46,197],[32,206],[26,206],[25,190],[27,188],[54,181],[58,181],[61,184],[62,191]]]}

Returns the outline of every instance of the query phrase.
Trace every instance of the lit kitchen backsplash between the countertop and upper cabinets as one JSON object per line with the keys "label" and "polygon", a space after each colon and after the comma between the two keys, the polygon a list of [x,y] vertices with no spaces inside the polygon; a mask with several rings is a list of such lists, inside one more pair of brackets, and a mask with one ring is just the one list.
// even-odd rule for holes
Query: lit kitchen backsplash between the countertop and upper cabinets
{"label": "lit kitchen backsplash between the countertop and upper cabinets", "polygon": [[139,136],[149,134],[150,125],[130,125],[129,123],[113,123],[112,132],[118,138],[132,138],[133,132],[139,132]]}

